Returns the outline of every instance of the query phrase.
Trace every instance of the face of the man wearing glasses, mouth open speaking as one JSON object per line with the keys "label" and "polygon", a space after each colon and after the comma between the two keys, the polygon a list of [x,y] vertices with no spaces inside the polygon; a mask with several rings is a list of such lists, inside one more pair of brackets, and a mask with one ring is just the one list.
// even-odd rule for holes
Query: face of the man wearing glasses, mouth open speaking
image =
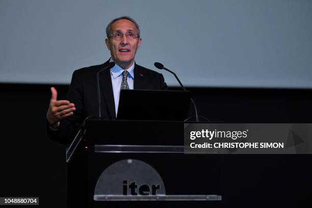
{"label": "face of the man wearing glasses, mouth open speaking", "polygon": [[[115,21],[111,25],[110,35],[121,33],[138,34],[136,25],[127,19],[120,19]],[[129,68],[133,62],[137,53],[137,49],[140,47],[141,38],[135,38],[133,41],[129,41],[125,35],[120,40],[115,40],[113,36],[106,39],[106,45],[111,51],[111,56],[117,65]]]}

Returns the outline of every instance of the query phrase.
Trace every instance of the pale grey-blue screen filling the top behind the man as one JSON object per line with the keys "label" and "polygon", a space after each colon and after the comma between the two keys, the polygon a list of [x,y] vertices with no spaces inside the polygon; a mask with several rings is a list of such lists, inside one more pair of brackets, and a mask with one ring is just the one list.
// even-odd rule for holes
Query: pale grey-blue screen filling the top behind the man
{"label": "pale grey-blue screen filling the top behind the man", "polygon": [[137,63],[162,62],[186,86],[312,88],[311,11],[304,0],[0,0],[0,82],[68,84],[110,57],[106,25],[129,15]]}

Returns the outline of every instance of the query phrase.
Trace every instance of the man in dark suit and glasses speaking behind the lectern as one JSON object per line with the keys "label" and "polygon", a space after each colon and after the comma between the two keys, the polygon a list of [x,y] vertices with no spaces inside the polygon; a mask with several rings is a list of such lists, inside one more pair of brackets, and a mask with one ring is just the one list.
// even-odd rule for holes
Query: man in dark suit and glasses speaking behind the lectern
{"label": "man in dark suit and glasses speaking behind the lectern", "polygon": [[46,118],[48,135],[55,141],[70,143],[83,120],[98,115],[96,73],[111,61],[116,65],[99,73],[102,119],[116,119],[120,89],[167,89],[162,74],[134,61],[141,44],[140,29],[135,20],[126,16],[116,18],[108,24],[106,33],[106,45],[112,58],[101,65],[74,71],[68,100],[57,100],[57,91],[51,88]]}

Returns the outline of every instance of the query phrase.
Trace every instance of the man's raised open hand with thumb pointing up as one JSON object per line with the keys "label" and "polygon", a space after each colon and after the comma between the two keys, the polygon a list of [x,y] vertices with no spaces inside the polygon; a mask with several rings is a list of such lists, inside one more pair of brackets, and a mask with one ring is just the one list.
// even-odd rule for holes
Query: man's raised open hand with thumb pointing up
{"label": "man's raised open hand with thumb pointing up", "polygon": [[57,100],[58,92],[54,87],[51,87],[50,106],[46,113],[46,119],[50,126],[57,128],[60,125],[60,120],[73,115],[76,110],[74,103],[68,100]]}

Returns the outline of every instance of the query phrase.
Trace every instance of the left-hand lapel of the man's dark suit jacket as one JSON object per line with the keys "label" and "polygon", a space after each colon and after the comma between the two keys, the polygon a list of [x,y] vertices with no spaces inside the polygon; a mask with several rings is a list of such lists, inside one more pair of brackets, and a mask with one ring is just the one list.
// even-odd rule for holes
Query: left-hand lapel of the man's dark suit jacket
{"label": "left-hand lapel of the man's dark suit jacket", "polygon": [[[105,66],[109,63],[106,62]],[[100,88],[102,95],[106,101],[106,105],[108,108],[108,112],[110,114],[111,119],[116,119],[116,112],[115,112],[115,101],[114,101],[114,94],[113,94],[113,86],[112,86],[112,79],[111,79],[111,71],[110,69],[106,69],[99,74],[100,79]]]}

